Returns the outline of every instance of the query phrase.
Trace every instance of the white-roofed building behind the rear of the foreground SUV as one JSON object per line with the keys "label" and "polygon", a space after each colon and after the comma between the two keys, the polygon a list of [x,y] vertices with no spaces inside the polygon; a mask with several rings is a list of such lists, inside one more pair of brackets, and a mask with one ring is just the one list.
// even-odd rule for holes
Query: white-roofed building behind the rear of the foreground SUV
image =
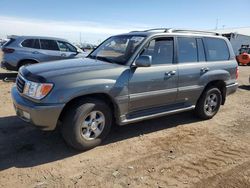
{"label": "white-roofed building behind the rear of the foreground SUV", "polygon": [[250,27],[218,29],[214,31],[229,39],[235,55],[239,54],[241,45],[250,45]]}

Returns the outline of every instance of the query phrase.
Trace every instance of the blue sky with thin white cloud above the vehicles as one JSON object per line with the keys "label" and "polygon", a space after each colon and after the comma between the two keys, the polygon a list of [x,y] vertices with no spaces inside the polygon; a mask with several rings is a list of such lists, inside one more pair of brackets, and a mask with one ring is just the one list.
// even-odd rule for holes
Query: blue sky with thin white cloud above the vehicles
{"label": "blue sky with thin white cloud above the vehicles", "polygon": [[1,0],[0,38],[42,35],[99,43],[149,28],[249,27],[250,0]]}

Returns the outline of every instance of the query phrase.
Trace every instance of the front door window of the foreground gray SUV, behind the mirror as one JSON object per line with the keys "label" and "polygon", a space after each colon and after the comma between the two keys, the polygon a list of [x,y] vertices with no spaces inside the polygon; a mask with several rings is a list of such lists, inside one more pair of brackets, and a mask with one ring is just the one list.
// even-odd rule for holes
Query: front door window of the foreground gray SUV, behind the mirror
{"label": "front door window of the foreground gray SUV, behind the mirror", "polygon": [[152,40],[142,55],[152,56],[152,64],[172,64],[174,54],[173,38],[160,38]]}

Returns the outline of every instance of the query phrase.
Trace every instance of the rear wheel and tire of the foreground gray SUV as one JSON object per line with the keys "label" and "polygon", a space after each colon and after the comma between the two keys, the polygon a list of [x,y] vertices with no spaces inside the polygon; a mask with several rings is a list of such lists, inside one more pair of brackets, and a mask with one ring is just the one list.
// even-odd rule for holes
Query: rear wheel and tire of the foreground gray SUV
{"label": "rear wheel and tire of the foreground gray SUV", "polygon": [[201,119],[211,119],[219,111],[221,102],[220,90],[217,87],[209,87],[200,96],[195,107],[195,113]]}

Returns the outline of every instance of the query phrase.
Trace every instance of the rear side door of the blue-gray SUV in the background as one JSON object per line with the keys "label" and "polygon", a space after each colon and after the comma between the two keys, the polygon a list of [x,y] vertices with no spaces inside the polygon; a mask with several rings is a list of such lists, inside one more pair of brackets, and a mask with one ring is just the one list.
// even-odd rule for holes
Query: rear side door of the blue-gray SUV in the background
{"label": "rear side door of the blue-gray SUV in the background", "polygon": [[41,61],[53,61],[61,59],[61,52],[55,40],[40,39],[41,50],[43,54]]}

